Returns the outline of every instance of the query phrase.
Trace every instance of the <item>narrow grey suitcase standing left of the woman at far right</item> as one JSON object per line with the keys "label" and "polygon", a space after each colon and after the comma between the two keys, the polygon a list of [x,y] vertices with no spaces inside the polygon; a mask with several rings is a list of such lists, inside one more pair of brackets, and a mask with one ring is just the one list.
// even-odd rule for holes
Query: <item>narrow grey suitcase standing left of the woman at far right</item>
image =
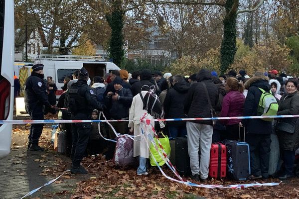
{"label": "narrow grey suitcase standing left of the woman at far right", "polygon": [[277,166],[280,156],[279,141],[276,134],[271,134],[271,144],[270,144],[270,156],[269,156],[269,176],[274,176],[277,172]]}

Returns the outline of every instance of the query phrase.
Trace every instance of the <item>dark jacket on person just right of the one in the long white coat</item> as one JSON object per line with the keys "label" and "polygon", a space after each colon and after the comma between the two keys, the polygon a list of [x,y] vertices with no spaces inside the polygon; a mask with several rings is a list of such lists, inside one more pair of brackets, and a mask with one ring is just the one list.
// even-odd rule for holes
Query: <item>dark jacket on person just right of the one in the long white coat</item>
{"label": "dark jacket on person just right of the one in the long white coat", "polygon": [[[189,84],[186,82],[176,83],[172,89],[169,89],[164,103],[164,118],[186,118],[184,114],[184,100],[189,90]],[[186,122],[168,122],[171,126],[185,125]]]}

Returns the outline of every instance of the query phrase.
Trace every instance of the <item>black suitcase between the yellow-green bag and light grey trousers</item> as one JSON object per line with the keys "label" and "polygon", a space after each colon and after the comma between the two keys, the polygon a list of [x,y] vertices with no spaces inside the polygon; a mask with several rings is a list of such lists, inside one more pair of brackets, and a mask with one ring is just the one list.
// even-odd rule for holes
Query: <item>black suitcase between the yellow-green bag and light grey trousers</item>
{"label": "black suitcase between the yellow-green bag and light grey trousers", "polygon": [[185,137],[175,138],[175,167],[179,175],[191,175],[188,141]]}

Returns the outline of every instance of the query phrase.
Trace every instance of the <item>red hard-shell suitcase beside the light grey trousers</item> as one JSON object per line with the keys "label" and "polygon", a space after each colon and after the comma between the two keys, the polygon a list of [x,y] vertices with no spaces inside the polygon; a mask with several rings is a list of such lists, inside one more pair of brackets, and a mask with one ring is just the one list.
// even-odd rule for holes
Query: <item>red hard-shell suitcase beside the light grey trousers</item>
{"label": "red hard-shell suitcase beside the light grey trousers", "polygon": [[226,176],[226,147],[224,144],[212,144],[210,154],[209,176],[215,179]]}

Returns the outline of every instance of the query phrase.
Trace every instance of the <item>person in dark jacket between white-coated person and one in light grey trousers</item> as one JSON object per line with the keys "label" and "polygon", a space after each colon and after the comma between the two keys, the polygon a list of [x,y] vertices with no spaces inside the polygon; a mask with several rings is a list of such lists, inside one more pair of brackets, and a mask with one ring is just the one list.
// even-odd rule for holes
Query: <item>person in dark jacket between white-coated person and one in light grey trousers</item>
{"label": "person in dark jacket between white-coated person and one in light grey trousers", "polygon": [[[185,118],[184,100],[189,90],[189,84],[181,75],[175,75],[172,84],[173,87],[168,90],[163,103],[164,118]],[[185,121],[167,122],[167,124],[170,137],[184,137],[187,135]]]}

